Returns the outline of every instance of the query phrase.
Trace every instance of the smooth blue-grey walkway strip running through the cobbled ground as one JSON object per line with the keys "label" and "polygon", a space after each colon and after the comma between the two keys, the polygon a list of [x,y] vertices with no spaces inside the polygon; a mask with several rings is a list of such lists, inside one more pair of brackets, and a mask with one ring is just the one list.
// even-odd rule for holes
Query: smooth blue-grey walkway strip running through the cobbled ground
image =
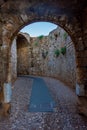
{"label": "smooth blue-grey walkway strip running through the cobbled ground", "polygon": [[30,77],[33,86],[29,104],[29,112],[53,112],[56,103],[42,78]]}

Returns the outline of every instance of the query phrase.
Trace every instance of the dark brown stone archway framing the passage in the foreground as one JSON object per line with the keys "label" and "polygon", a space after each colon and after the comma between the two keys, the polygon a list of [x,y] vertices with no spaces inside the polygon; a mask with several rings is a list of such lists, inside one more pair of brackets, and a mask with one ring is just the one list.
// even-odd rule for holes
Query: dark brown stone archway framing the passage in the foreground
{"label": "dark brown stone archway framing the passage in the foreground", "polygon": [[[85,2],[85,1],[84,1]],[[82,3],[84,3],[82,1]],[[2,1],[1,4],[1,20],[0,35],[1,52],[2,52],[2,84],[11,83],[11,64],[10,64],[10,47],[12,40],[19,30],[35,21],[48,21],[56,23],[65,29],[71,36],[76,50],[77,63],[77,94],[79,96],[87,96],[87,49],[85,35],[85,27],[83,27],[83,15],[79,16],[79,12],[87,12],[83,4],[80,2],[70,2],[68,0],[61,1]],[[72,8],[73,7],[73,8]],[[86,21],[86,19],[85,19]],[[85,22],[86,23],[86,22]],[[3,85],[2,85],[3,86]],[[85,103],[83,104],[85,106]],[[87,106],[86,106],[87,107]],[[85,107],[85,110],[87,108]]]}

